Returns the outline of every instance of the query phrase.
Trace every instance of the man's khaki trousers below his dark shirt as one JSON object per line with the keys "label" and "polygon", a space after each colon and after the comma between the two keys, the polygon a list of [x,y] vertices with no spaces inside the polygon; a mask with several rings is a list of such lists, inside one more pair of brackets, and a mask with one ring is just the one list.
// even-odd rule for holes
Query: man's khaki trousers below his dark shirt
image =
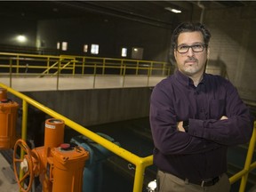
{"label": "man's khaki trousers below his dark shirt", "polygon": [[157,192],[229,192],[230,182],[228,175],[223,174],[220,180],[213,186],[201,187],[189,183],[189,181],[181,180],[180,178],[166,172],[157,172]]}

